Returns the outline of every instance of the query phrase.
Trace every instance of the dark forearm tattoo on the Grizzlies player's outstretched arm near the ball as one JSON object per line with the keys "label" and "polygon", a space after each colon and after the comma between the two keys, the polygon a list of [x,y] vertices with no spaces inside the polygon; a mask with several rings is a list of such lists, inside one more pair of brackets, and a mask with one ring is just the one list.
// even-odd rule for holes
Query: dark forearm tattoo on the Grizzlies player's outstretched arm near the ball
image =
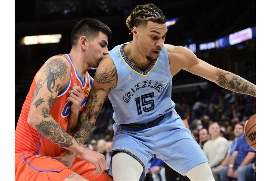
{"label": "dark forearm tattoo on the Grizzlies player's outstretched arm near the ball", "polygon": [[236,93],[256,96],[256,85],[232,73],[220,75],[217,79],[217,84]]}

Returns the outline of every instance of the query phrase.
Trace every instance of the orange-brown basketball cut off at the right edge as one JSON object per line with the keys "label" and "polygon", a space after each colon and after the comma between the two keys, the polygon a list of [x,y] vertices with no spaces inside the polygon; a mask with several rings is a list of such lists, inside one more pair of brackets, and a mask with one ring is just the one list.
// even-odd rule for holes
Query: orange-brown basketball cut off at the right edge
{"label": "orange-brown basketball cut off at the right edge", "polygon": [[245,128],[247,143],[256,151],[256,114],[251,116]]}

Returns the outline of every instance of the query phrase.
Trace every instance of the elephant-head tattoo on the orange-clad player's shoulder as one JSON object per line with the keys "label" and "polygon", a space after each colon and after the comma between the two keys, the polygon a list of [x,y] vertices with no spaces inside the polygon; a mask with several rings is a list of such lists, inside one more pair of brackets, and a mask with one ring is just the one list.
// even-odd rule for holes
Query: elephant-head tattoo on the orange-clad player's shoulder
{"label": "elephant-head tattoo on the orange-clad player's shoulder", "polygon": [[[47,81],[47,89],[51,93],[53,93],[51,88],[53,89],[55,87],[55,80],[64,80],[66,78],[67,68],[68,66],[66,65],[66,61],[60,58],[52,59],[49,63],[47,63],[45,67],[45,74],[47,78],[43,81],[43,84]],[[58,89],[58,87],[56,89]]]}

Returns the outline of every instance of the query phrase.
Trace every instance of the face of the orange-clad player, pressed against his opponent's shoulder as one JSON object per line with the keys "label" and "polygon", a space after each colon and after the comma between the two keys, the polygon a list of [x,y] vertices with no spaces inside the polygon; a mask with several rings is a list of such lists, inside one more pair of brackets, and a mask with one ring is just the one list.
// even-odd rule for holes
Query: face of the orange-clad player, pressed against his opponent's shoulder
{"label": "face of the orange-clad player, pressed against his opponent's shoulder", "polygon": [[89,42],[87,51],[88,61],[91,67],[97,68],[102,58],[108,53],[107,35],[99,32],[99,36]]}

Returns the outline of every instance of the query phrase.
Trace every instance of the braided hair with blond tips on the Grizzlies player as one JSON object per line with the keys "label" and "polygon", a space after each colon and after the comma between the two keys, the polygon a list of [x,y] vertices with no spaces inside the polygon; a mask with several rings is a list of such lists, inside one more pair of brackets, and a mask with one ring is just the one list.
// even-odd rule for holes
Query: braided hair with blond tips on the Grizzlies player
{"label": "braided hair with blond tips on the Grizzlies player", "polygon": [[146,25],[148,21],[164,24],[166,17],[154,4],[137,5],[126,19],[126,25],[131,31],[129,34],[132,33],[134,26]]}

